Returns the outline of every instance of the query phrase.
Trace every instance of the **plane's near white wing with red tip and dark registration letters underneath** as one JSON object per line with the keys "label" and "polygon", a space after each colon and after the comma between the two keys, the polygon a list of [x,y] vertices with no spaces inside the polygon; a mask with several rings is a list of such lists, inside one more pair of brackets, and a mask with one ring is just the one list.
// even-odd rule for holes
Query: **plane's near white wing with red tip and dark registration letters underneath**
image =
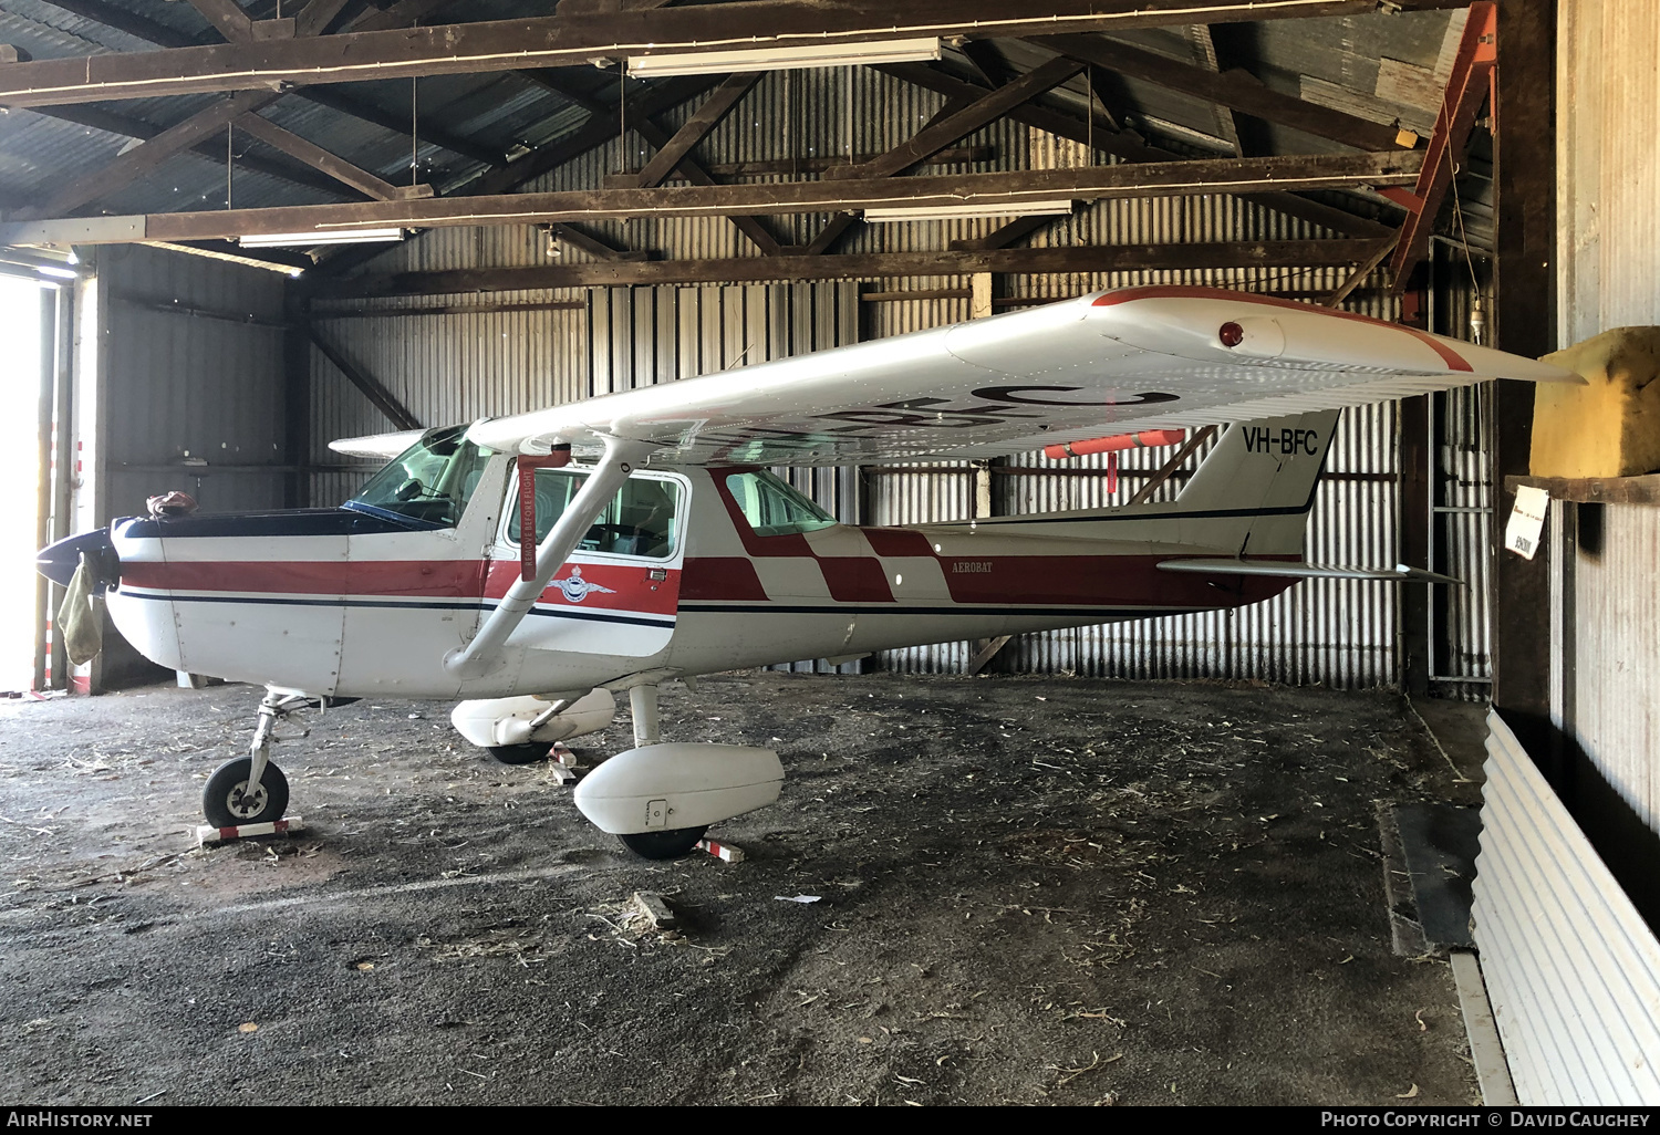
{"label": "plane's near white wing with red tip and dark registration letters underneath", "polygon": [[649,463],[669,466],[991,458],[1487,378],[1584,382],[1325,307],[1139,287],[480,421],[471,438],[586,456],[609,435],[661,446]]}

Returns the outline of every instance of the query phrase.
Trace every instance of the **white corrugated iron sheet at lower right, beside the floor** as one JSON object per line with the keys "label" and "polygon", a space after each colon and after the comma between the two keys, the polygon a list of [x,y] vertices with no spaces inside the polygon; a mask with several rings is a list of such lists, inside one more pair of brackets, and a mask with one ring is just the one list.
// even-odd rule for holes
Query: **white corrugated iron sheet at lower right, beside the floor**
{"label": "white corrugated iron sheet at lower right, beside the floor", "polygon": [[1522,1103],[1660,1102],[1660,943],[1497,714],[1476,944]]}

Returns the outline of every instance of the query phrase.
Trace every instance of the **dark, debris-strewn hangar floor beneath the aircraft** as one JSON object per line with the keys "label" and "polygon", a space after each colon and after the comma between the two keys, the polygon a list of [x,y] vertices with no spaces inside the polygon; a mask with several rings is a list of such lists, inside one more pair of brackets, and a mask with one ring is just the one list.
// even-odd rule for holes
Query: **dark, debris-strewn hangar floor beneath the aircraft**
{"label": "dark, debris-strewn hangar floor beneath the aircraft", "polygon": [[[307,833],[194,850],[256,700],[0,705],[0,1098],[1479,1098],[1449,969],[1389,949],[1378,803],[1474,800],[1398,697],[664,687],[667,740],[784,760],[782,801],[710,833],[737,865],[632,858],[408,702],[279,745]],[[624,710],[576,750],[629,743]]]}

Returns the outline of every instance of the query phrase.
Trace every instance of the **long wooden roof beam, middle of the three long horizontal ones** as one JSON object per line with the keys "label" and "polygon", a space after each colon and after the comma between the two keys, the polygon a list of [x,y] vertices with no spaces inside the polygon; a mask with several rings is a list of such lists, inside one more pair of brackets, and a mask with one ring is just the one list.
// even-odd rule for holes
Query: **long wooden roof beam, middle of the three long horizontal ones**
{"label": "long wooden roof beam, middle of the three long horizontal ones", "polygon": [[[267,95],[267,98],[276,98]],[[657,186],[656,189],[588,189],[515,192],[491,197],[428,201],[362,201],[281,209],[158,212],[143,217],[91,217],[0,224],[10,242],[120,244],[131,241],[206,241],[274,232],[324,232],[340,227],[453,227],[553,224],[634,216],[769,216],[848,212],[870,206],[1006,204],[1071,197],[1159,197],[1257,191],[1270,186],[1335,188],[1399,184],[1418,176],[1421,154],[1315,154],[1217,158],[1202,161],[1124,163],[1076,169],[1028,169],[993,174],[876,178],[873,181],[788,181],[744,186]],[[1370,251],[1370,247],[1368,247]]]}

